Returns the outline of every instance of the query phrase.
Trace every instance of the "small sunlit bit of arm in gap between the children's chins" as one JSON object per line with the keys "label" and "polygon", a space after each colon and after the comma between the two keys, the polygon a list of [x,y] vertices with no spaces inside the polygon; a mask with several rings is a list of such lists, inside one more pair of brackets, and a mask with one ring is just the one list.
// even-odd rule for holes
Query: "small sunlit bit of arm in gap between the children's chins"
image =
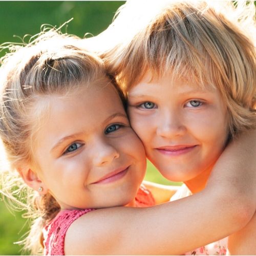
{"label": "small sunlit bit of arm in gap between the children's chins", "polygon": [[170,198],[177,192],[180,186],[162,185],[150,181],[143,181],[143,185],[151,191],[156,204],[168,202]]}

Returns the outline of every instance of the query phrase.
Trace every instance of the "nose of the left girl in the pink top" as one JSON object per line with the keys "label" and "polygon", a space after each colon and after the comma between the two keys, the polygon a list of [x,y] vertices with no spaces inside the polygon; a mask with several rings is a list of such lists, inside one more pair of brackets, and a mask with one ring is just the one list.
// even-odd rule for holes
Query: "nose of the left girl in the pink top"
{"label": "nose of the left girl in the pink top", "polygon": [[119,158],[117,149],[107,141],[95,141],[95,143],[97,143],[93,156],[95,166],[106,165]]}

